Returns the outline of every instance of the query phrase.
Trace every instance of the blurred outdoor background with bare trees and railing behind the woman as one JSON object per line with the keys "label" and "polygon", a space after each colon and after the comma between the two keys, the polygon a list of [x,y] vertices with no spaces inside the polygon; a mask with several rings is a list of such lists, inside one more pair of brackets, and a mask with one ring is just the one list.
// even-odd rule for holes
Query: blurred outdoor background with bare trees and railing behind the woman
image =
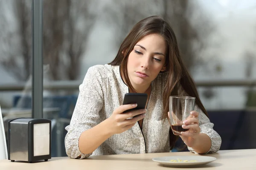
{"label": "blurred outdoor background with bare trees and railing behind the woman", "polygon": [[[32,117],[32,8],[32,0],[0,0],[5,125]],[[256,148],[255,0],[44,0],[43,117],[52,120],[52,157],[67,156],[64,127],[87,69],[111,62],[128,31],[151,15],[171,23],[221,150]]]}

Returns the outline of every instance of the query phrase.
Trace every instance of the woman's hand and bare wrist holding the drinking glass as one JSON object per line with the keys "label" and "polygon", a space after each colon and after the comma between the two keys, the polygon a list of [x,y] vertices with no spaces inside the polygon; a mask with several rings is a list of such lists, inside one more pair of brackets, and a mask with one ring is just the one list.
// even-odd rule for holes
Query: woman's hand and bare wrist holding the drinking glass
{"label": "woman's hand and bare wrist holding the drinking glass", "polygon": [[201,128],[199,127],[198,115],[199,113],[197,111],[192,111],[189,117],[183,121],[182,128],[189,130],[186,132],[181,132],[180,137],[188,147],[193,147],[196,145],[201,131]]}

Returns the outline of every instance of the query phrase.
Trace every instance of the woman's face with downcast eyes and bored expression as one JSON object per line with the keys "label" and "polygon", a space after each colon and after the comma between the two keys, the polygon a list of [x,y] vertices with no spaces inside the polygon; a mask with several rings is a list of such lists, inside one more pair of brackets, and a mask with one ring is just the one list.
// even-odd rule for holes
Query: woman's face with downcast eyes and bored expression
{"label": "woman's face with downcast eyes and bored expression", "polygon": [[166,42],[159,34],[149,34],[129,54],[127,70],[134,87],[148,86],[165,70]]}

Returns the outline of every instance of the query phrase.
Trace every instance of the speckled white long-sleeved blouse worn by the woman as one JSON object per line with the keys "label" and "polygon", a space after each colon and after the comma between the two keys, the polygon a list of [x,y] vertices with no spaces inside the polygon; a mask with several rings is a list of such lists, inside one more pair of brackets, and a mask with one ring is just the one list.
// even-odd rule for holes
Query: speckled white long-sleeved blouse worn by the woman
{"label": "speckled white long-sleeved blouse worn by the woman", "polygon": [[[90,155],[169,152],[170,126],[167,120],[164,122],[161,120],[165,79],[166,74],[159,74],[151,83],[151,95],[142,130],[137,122],[131,129],[108,138],[93,153],[82,154],[78,146],[81,133],[110,117],[113,111],[122,105],[124,96],[128,93],[128,86],[122,81],[119,66],[90,67],[80,86],[70,125],[65,128],[67,155],[70,158],[81,155],[83,159]],[[178,95],[187,96],[183,88],[179,89]],[[199,113],[201,133],[206,133],[212,141],[212,146],[207,153],[217,152],[221,146],[221,137],[212,129],[213,124],[197,105],[195,105],[195,111]],[[192,148],[188,147],[188,149],[195,153]]]}

